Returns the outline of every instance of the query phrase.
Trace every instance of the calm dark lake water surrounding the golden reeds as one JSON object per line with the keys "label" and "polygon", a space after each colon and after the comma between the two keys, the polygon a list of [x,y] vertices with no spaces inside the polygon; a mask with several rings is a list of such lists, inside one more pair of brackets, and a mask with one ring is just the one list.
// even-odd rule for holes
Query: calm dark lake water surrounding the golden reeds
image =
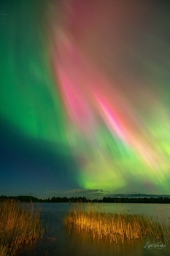
{"label": "calm dark lake water surrounding the golden reeds", "polygon": [[[169,204],[139,204],[139,203],[93,203],[90,206],[82,203],[82,208],[87,211],[93,208],[95,211],[106,213],[126,213],[126,214],[146,214],[157,217],[167,222],[170,221]],[[34,208],[41,209],[41,220],[45,226],[45,235],[42,240],[37,241],[32,246],[24,246],[17,256],[168,256],[170,250],[163,241],[152,238],[152,241],[134,240],[124,244],[109,244],[93,240],[85,233],[77,233],[76,230],[69,230],[63,224],[63,218],[73,206],[79,207],[78,204],[69,203],[34,203]],[[161,243],[163,247],[151,244]]]}

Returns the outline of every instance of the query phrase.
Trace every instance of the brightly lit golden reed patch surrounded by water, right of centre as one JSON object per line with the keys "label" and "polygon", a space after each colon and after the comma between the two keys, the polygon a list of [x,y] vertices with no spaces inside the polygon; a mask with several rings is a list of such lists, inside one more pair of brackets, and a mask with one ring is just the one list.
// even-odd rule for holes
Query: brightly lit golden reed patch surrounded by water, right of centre
{"label": "brightly lit golden reed patch surrounded by water, right of centre", "polygon": [[[99,240],[117,243],[132,239],[156,238],[165,241],[170,235],[170,225],[165,227],[158,219],[140,214],[106,214],[97,211],[74,209],[64,219],[66,227],[88,233]],[[169,231],[168,231],[169,230]]]}

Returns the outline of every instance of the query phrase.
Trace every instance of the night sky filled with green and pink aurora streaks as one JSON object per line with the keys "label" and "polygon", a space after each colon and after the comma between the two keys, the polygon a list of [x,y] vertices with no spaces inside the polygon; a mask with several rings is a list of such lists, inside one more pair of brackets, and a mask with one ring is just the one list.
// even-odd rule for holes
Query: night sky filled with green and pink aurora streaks
{"label": "night sky filled with green and pink aurora streaks", "polygon": [[0,194],[169,194],[169,1],[0,3]]}

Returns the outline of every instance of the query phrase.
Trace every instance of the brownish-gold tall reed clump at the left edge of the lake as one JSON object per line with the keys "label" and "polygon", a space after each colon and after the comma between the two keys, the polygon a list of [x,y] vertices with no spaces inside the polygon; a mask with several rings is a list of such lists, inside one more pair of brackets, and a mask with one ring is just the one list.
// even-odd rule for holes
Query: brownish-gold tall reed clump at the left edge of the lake
{"label": "brownish-gold tall reed clump at the left edge of the lake", "polygon": [[32,244],[42,235],[40,213],[33,204],[0,201],[0,256],[15,255],[21,245]]}

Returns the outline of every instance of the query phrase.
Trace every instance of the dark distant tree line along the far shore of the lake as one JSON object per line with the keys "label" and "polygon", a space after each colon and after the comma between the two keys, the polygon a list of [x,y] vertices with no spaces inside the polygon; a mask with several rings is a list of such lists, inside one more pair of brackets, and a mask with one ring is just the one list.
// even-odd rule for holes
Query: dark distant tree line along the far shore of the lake
{"label": "dark distant tree line along the far shore of the lake", "polygon": [[7,196],[1,195],[1,200],[18,200],[28,203],[170,203],[169,197],[103,197],[103,199],[90,200],[86,197],[48,197],[39,199],[31,195]]}

